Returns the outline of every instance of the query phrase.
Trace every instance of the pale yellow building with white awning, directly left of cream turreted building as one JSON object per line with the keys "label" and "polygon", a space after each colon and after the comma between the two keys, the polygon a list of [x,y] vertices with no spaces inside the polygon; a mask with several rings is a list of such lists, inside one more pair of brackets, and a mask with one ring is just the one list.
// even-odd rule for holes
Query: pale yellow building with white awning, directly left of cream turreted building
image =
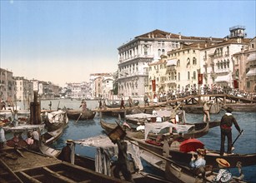
{"label": "pale yellow building with white awning, directly left of cream turreted building", "polygon": [[[192,44],[181,44],[181,47],[168,52],[168,89],[176,92],[190,91],[191,88],[199,90],[198,74],[203,62],[200,60],[201,50],[211,44],[211,39],[207,42],[197,42]],[[188,92],[187,91],[187,92]]]}

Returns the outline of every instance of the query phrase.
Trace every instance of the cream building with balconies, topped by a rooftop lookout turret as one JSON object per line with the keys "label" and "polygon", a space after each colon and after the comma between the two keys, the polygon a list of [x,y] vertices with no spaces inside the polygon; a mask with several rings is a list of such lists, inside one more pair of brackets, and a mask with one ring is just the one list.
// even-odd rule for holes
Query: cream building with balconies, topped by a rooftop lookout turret
{"label": "cream building with balconies, topped by a rooftop lookout turret", "polygon": [[200,54],[203,60],[203,84],[209,87],[233,88],[233,81],[236,80],[233,54],[240,52],[248,45],[249,39],[242,26],[231,27],[230,35],[225,37],[223,42],[205,47]]}

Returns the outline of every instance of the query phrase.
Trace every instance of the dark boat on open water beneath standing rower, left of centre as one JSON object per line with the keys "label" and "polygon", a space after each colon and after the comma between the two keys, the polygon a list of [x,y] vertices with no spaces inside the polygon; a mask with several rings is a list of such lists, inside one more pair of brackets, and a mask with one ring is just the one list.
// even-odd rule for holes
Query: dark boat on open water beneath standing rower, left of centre
{"label": "dark boat on open water beneath standing rower, left of centre", "polygon": [[68,110],[67,114],[68,114],[68,118],[71,120],[85,121],[85,120],[92,120],[96,112],[91,111],[89,109],[87,111]]}

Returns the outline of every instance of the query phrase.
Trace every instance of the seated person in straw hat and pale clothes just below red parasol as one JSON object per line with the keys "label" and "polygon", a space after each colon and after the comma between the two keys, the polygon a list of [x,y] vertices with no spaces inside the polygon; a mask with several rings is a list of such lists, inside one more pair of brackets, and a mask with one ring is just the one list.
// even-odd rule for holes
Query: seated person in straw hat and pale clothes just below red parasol
{"label": "seated person in straw hat and pale clothes just below red parasol", "polygon": [[206,161],[204,160],[204,156],[206,155],[205,149],[197,149],[198,158],[196,159],[194,155],[192,154],[191,161],[189,163],[189,166],[193,168],[193,171],[196,175],[202,173],[202,175],[205,175],[204,166],[206,165]]}

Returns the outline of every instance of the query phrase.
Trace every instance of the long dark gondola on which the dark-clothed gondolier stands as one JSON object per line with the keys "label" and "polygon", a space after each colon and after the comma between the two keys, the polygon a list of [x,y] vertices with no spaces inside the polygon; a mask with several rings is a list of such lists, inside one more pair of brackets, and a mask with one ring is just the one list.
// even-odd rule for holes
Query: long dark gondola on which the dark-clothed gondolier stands
{"label": "long dark gondola on which the dark-clothed gondolier stands", "polygon": [[[116,126],[115,124],[109,125],[109,123],[101,120],[100,121],[101,126],[103,129],[106,131],[110,131],[111,127]],[[104,128],[105,127],[105,128]],[[144,141],[142,138],[138,138],[135,136],[132,132],[127,132],[127,138],[132,141],[138,141],[138,145],[143,146],[147,148],[150,151],[153,151],[157,153],[158,155],[163,155],[163,148],[162,146],[155,146],[153,144],[149,144]],[[133,136],[134,135],[134,136]],[[177,161],[183,165],[188,165],[188,163],[191,160],[192,154],[191,153],[186,153],[179,151],[177,148],[172,148],[169,151],[169,155],[172,156],[173,161]],[[206,162],[208,164],[212,165],[213,168],[218,168],[218,163],[215,161],[216,158],[223,158],[227,160],[230,163],[230,167],[236,167],[236,164],[238,161],[242,162],[243,166],[253,166],[256,165],[256,153],[252,154],[228,154],[224,156],[220,156],[219,151],[213,151],[213,150],[208,150],[207,154],[205,156]]]}

